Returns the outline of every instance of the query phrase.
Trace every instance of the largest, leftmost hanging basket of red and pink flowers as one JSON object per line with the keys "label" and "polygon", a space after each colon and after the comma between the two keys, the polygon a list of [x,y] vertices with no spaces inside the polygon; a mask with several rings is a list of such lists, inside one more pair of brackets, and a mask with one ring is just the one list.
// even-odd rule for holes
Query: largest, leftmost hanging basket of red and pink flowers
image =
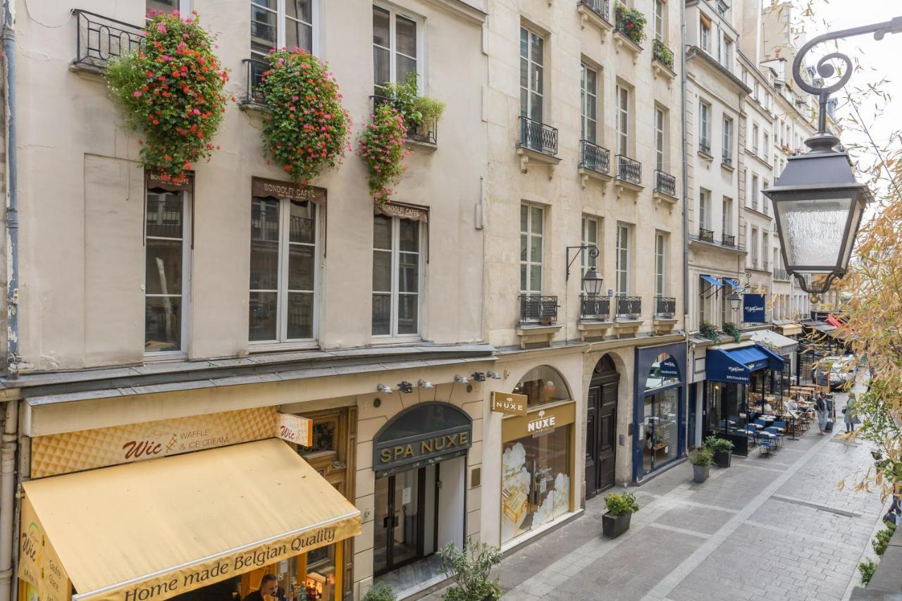
{"label": "largest, leftmost hanging basket of red and pink flowers", "polygon": [[143,167],[161,180],[183,182],[194,163],[218,149],[211,140],[226,111],[228,73],[212,46],[197,12],[182,19],[179,11],[151,11],[142,47],[107,68],[129,125],[144,134]]}

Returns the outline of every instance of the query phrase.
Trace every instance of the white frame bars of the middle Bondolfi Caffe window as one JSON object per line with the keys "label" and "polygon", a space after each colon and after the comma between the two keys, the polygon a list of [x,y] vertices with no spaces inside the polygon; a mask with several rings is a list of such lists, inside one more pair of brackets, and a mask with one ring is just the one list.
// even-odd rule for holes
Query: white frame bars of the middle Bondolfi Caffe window
{"label": "white frame bars of the middle Bondolfi Caffe window", "polygon": [[[276,337],[272,340],[248,340],[248,345],[253,350],[264,350],[265,347],[287,347],[299,346],[310,347],[315,346],[319,336],[319,295],[320,295],[320,278],[321,274],[319,264],[322,260],[322,227],[323,227],[323,211],[326,208],[314,203],[316,211],[316,223],[313,224],[314,244],[313,244],[313,313],[311,316],[312,328],[310,328],[310,337],[308,338],[290,338],[288,337],[288,295],[290,292],[306,292],[306,291],[290,291],[289,282],[289,251],[291,245],[309,246],[305,243],[290,242],[291,227],[291,200],[279,200],[279,282],[276,290],[254,289],[254,292],[275,292],[276,293]],[[308,200],[308,202],[310,202]],[[251,290],[248,290],[250,294]],[[248,332],[250,338],[250,332]],[[261,348],[262,347],[262,348]]]}

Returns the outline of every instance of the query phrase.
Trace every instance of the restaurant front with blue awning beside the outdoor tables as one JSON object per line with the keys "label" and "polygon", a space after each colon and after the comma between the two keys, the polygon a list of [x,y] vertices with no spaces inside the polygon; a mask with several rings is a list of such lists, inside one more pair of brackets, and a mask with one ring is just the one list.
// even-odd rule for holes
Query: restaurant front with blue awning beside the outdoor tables
{"label": "restaurant front with blue awning beside the outdoor tables", "polygon": [[[746,426],[769,393],[769,376],[783,371],[783,357],[760,345],[709,349],[705,359],[704,430],[733,443],[733,452],[749,452]],[[750,394],[754,397],[750,402]]]}

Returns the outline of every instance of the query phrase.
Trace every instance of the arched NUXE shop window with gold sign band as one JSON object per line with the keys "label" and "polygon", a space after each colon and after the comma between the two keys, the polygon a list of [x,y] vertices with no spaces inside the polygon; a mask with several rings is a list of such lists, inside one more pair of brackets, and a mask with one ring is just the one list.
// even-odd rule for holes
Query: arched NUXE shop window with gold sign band
{"label": "arched NUXE shop window with gold sign band", "polygon": [[524,402],[502,419],[502,549],[576,511],[573,468],[576,403],[549,365],[524,374],[513,394]]}

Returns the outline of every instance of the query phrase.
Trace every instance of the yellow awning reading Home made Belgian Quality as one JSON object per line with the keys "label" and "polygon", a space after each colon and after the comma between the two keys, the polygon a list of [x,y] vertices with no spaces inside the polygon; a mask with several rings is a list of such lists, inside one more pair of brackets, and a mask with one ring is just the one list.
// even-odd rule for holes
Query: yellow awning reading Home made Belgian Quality
{"label": "yellow awning reading Home made Belgian Quality", "polygon": [[69,581],[76,601],[161,601],[360,533],[357,508],[279,439],[23,488],[22,538],[42,551],[19,576],[41,601]]}

